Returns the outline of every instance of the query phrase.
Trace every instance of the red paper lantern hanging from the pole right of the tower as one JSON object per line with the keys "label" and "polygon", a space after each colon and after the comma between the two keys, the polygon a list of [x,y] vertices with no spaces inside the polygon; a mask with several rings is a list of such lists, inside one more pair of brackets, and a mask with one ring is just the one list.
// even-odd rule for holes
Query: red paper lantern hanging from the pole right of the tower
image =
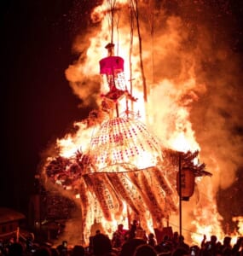
{"label": "red paper lantern hanging from the pole right of the tower", "polygon": [[[181,173],[181,178],[180,178]],[[180,189],[180,184],[182,189]],[[181,172],[177,172],[176,189],[182,201],[188,201],[194,194],[195,175],[194,171],[189,168],[182,168]]]}

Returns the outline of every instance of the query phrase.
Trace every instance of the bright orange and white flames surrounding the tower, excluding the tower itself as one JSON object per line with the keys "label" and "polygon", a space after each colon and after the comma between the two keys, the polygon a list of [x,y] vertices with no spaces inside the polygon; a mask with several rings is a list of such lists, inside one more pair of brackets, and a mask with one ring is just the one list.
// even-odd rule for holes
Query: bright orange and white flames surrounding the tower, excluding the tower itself
{"label": "bright orange and white flames surrounding the tower, excluding the tower itself", "polygon": [[[182,20],[179,17],[166,17],[165,27],[162,32],[157,32],[156,38],[148,37],[142,41],[142,58],[145,63],[145,71],[147,74],[148,84],[148,102],[144,102],[142,91],[142,74],[140,68],[139,52],[139,37],[133,32],[133,51],[130,56],[130,25],[128,18],[122,16],[121,9],[128,9],[130,6],[127,1],[117,1],[119,15],[116,22],[113,39],[117,41],[116,54],[124,58],[124,80],[128,84],[128,90],[132,90],[132,94],[137,97],[136,104],[130,103],[130,109],[139,116],[142,121],[148,125],[151,131],[155,131],[163,145],[167,148],[174,149],[180,152],[200,150],[200,144],[195,138],[192,122],[190,120],[190,110],[194,102],[198,101],[200,94],[206,92],[206,85],[199,83],[196,74],[196,60],[193,53],[183,52],[181,50],[182,41],[188,37],[186,29],[182,28]],[[144,3],[145,4],[145,3]],[[107,2],[104,1],[100,6],[96,7],[91,19],[95,23],[100,24],[100,30],[90,33],[89,48],[86,50],[86,55],[80,58],[76,63],[67,68],[66,75],[70,81],[74,94],[78,95],[85,104],[90,103],[90,95],[95,91],[97,81],[101,82],[102,78],[97,78],[99,73],[98,62],[107,56],[107,50],[104,46],[109,43],[111,36],[111,24],[109,21],[109,8]],[[162,14],[164,15],[164,14]],[[165,18],[165,17],[164,17]],[[119,21],[118,21],[119,20]],[[142,21],[142,33],[146,31],[146,21]],[[148,29],[148,27],[147,27]],[[75,48],[82,49],[83,44],[79,44],[77,40]],[[178,53],[175,55],[173,52]],[[175,63],[171,60],[174,57]],[[132,59],[132,69],[128,60]],[[166,62],[167,61],[167,62]],[[176,62],[177,61],[177,62]],[[180,67],[179,70],[176,70]],[[88,80],[90,83],[85,86],[80,86],[83,80]],[[104,80],[104,79],[103,79]],[[101,90],[107,90],[106,84],[103,82]],[[93,95],[92,95],[93,96]],[[96,93],[95,102],[99,104],[100,92]],[[119,101],[121,113],[125,113],[127,106],[124,100]],[[57,148],[60,150],[60,155],[63,157],[73,157],[75,152],[82,145],[84,154],[89,151],[90,137],[95,133],[95,126],[87,127],[84,123],[75,123],[77,132],[75,134],[67,134],[66,137],[58,139],[56,142]],[[123,146],[125,147],[125,145]],[[114,158],[116,152],[113,152]],[[150,152],[142,154],[141,166],[153,166],[153,158]],[[135,160],[136,165],[141,162],[141,159]],[[113,163],[109,163],[113,164]],[[99,166],[101,169],[102,167]],[[219,170],[214,170],[219,172]],[[223,238],[223,230],[221,229],[220,221],[222,217],[217,212],[215,191],[211,184],[199,182],[198,187],[200,193],[206,193],[200,202],[194,201],[194,209],[190,209],[190,215],[193,220],[188,223],[191,225],[194,232],[191,235],[192,241],[200,244],[203,234],[217,235],[220,239]],[[203,192],[202,192],[203,191]],[[77,199],[80,195],[76,195]],[[95,214],[101,218],[101,206],[99,203],[89,196],[90,204],[95,205],[95,213],[87,220],[91,225],[94,221]],[[114,226],[120,222],[124,225],[128,223],[126,204],[123,201],[122,218],[117,219],[113,215],[111,222],[102,221],[103,227],[108,234],[112,234]],[[184,207],[188,207],[184,205]],[[239,234],[242,234],[242,218],[234,218],[240,224]],[[148,224],[151,227],[151,224]],[[90,236],[91,233],[87,233]]]}

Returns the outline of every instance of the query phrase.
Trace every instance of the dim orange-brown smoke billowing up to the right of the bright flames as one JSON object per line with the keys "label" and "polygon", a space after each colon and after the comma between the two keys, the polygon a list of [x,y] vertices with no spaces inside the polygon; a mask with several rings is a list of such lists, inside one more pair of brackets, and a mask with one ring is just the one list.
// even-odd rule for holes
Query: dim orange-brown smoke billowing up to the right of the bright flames
{"label": "dim orange-brown smoke billowing up to the right of the bright flames", "polygon": [[[240,55],[234,51],[232,29],[235,21],[232,11],[227,1],[215,5],[203,1],[179,3],[176,19],[171,19],[171,15],[166,19],[167,22],[176,20],[176,26],[172,21],[169,24],[173,28],[170,31],[177,32],[177,37],[174,38],[178,45],[170,44],[172,47],[167,51],[167,59],[174,61],[164,58],[158,66],[162,67],[164,77],[179,84],[176,90],[183,90],[183,79],[189,78],[190,75],[195,78],[196,86],[187,88],[183,95],[190,96],[189,93],[193,92],[197,96],[195,99],[191,98],[192,101],[187,106],[189,120],[196,141],[200,144],[200,160],[205,162],[208,171],[213,173],[210,181],[205,178],[200,182],[201,198],[198,205],[213,205],[217,197],[217,204],[221,206],[221,214],[226,221],[229,221],[229,215],[231,218],[238,216],[237,214],[242,216],[242,207],[241,212],[239,210],[242,195],[238,182],[243,152],[243,114],[240,104],[243,100],[240,93],[242,72]],[[161,41],[161,44],[163,42]],[[175,63],[176,65],[173,65]],[[167,72],[163,67],[167,64],[174,67],[172,76],[170,71]],[[156,77],[159,78],[159,72]],[[159,90],[156,90],[154,95],[158,96],[158,93]],[[160,93],[163,93],[162,90]],[[173,97],[175,98],[175,95]],[[163,102],[166,99],[162,96],[161,98]],[[183,101],[185,98],[182,96],[181,99]],[[179,103],[182,104],[182,101]],[[166,103],[168,104],[168,101],[165,101]],[[162,113],[160,109],[159,113]],[[175,115],[173,111],[171,114]],[[167,121],[171,115],[167,117],[169,118],[166,119],[166,115],[161,116],[162,125],[165,124],[163,120]],[[230,190],[232,186],[234,190]],[[226,193],[220,192],[226,189],[231,191],[227,196]],[[229,201],[234,205],[230,211]],[[217,218],[222,221],[219,216]]]}

